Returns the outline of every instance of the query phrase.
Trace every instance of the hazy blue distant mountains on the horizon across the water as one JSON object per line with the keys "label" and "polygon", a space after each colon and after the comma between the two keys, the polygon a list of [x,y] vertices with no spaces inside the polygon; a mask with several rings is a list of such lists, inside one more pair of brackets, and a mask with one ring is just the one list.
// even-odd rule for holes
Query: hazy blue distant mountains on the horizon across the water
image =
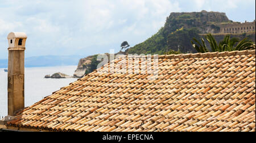
{"label": "hazy blue distant mountains on the horizon across the water", "polygon": [[[37,56],[25,58],[25,67],[77,65],[85,56]],[[0,60],[0,68],[8,68],[8,60]]]}

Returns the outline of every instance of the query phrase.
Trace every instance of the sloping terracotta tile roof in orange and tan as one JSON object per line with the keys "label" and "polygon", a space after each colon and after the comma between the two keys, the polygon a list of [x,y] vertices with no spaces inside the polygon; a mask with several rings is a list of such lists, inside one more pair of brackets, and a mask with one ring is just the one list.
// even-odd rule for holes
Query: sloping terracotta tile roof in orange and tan
{"label": "sloping terracotta tile roof in orange and tan", "polygon": [[255,50],[164,55],[158,68],[157,79],[101,68],[102,73],[94,71],[25,108],[7,125],[49,131],[255,132]]}

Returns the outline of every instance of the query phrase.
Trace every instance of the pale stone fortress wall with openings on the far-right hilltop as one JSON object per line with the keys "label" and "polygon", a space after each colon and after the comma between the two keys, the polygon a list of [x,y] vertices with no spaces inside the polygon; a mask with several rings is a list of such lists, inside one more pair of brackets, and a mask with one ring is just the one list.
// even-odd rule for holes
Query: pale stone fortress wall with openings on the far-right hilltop
{"label": "pale stone fortress wall with openings on the far-right hilltop", "polygon": [[220,33],[247,33],[247,32],[255,32],[255,20],[254,22],[246,22],[245,23],[232,23],[232,24],[220,24]]}

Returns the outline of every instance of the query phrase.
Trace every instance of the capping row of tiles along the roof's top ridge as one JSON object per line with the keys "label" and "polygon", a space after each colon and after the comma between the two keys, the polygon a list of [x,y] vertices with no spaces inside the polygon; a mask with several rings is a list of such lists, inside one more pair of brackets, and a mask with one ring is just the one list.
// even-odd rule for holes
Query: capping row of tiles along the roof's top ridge
{"label": "capping row of tiles along the roof's top ridge", "polygon": [[[223,56],[241,56],[241,55],[248,55],[253,54],[255,55],[255,49],[254,50],[244,50],[244,51],[225,51],[225,52],[208,52],[208,53],[188,53],[188,54],[164,54],[158,56],[158,58],[167,58],[167,59],[174,59],[174,58],[211,58],[211,57],[223,57]],[[120,56],[120,57],[147,57],[147,56]],[[154,56],[151,56],[151,58],[154,58]]]}

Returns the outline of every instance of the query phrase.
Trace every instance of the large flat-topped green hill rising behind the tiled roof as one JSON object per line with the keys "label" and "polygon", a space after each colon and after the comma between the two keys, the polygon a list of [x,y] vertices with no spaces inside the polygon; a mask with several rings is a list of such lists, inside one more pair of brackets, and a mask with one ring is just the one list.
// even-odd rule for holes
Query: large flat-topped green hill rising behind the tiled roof
{"label": "large flat-topped green hill rising behind the tiled roof", "polygon": [[217,24],[232,23],[222,12],[172,12],[167,17],[164,27],[138,45],[127,49],[127,54],[163,54],[171,49],[183,53],[195,53],[191,45],[193,37],[199,38],[199,33],[218,33]]}

